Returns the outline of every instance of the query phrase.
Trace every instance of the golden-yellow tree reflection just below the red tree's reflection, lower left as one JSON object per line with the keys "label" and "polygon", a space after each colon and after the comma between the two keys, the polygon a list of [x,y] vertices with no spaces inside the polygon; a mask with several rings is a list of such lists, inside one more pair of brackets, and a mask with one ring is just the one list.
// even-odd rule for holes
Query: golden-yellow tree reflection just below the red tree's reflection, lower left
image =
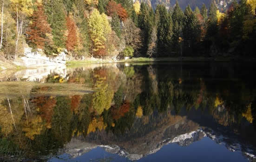
{"label": "golden-yellow tree reflection just below the red tree's reflection, lower left", "polygon": [[25,136],[29,139],[34,139],[35,135],[39,135],[43,129],[43,122],[40,116],[31,118],[28,124],[25,124],[22,131],[25,131]]}

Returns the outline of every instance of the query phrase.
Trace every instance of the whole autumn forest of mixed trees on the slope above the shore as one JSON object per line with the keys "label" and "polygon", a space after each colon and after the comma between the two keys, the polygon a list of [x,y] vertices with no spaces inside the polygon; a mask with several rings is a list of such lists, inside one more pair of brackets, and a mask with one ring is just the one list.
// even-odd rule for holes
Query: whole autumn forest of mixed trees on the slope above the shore
{"label": "whole autumn forest of mixed trees on the slope above the shore", "polygon": [[[186,4],[195,8],[195,2]],[[1,0],[0,57],[13,60],[27,47],[47,56],[65,51],[76,59],[254,55],[256,0],[234,1],[226,12],[216,2],[194,11],[189,4],[183,11],[178,2],[170,9],[158,3],[162,2]]]}

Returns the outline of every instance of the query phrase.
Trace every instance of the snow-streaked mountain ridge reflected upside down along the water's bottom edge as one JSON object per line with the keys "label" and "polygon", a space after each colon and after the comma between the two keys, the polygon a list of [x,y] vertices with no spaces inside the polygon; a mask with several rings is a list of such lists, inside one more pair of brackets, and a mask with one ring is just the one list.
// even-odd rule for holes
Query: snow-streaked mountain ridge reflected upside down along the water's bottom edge
{"label": "snow-streaked mountain ridge reflected upside down along the water's bottom edge", "polygon": [[242,144],[240,144],[238,141],[234,139],[229,139],[230,141],[233,141],[232,144],[227,143],[226,140],[228,139],[228,137],[224,137],[223,135],[219,135],[218,133],[208,129],[205,129],[205,130],[199,129],[197,131],[191,131],[189,133],[178,135],[174,138],[167,138],[161,141],[160,143],[155,144],[145,155],[130,154],[129,152],[125,151],[125,149],[121,149],[118,145],[115,145],[115,144],[97,145],[97,144],[87,143],[87,142],[84,142],[84,139],[82,137],[72,138],[71,142],[66,145],[65,152],[74,158],[77,156],[81,156],[92,149],[100,147],[109,153],[118,154],[119,156],[124,156],[129,160],[134,161],[134,160],[139,160],[142,157],[148,156],[150,154],[156,153],[164,145],[167,145],[170,143],[177,143],[178,145],[181,145],[181,146],[188,146],[193,142],[201,140],[203,137],[209,137],[216,143],[225,145],[225,147],[230,151],[242,152],[243,155],[249,161],[256,159],[256,156],[254,155],[255,154],[254,150],[251,150],[250,148],[245,148],[244,146],[242,146]]}

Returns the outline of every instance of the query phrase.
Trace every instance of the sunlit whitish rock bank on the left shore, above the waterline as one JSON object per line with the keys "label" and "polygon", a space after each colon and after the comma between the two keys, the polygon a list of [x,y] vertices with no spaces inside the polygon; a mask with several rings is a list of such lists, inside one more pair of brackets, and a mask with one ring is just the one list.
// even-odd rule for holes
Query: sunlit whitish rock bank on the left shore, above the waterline
{"label": "sunlit whitish rock bank on the left shore, above the waterline", "polygon": [[19,60],[13,62],[18,66],[27,68],[42,67],[42,66],[56,66],[66,64],[66,52],[61,52],[58,56],[47,57],[42,50],[33,52],[31,48],[25,48],[24,56]]}

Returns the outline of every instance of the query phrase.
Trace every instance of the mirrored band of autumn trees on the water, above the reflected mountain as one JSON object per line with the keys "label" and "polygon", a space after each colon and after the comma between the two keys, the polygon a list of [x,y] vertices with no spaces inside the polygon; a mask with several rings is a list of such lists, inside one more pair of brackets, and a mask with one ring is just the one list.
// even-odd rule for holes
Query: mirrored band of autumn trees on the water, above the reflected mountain
{"label": "mirrored band of autumn trees on the water, above the reflected mountain", "polygon": [[[134,129],[138,118],[144,125],[151,122],[156,126],[165,120],[182,120],[183,109],[186,113],[209,113],[223,126],[242,127],[246,120],[256,125],[256,94],[250,81],[242,78],[214,86],[217,84],[213,80],[184,76],[186,69],[182,73],[160,70],[153,65],[76,69],[65,78],[48,75],[46,81],[89,84],[93,93],[36,97],[31,94],[26,99],[8,99],[10,106],[8,100],[0,100],[0,147],[1,143],[11,143],[0,154],[10,155],[18,150],[28,157],[56,154],[74,136],[86,137],[103,130],[118,136]],[[156,111],[173,116],[155,120],[152,114]],[[137,128],[133,135],[143,130]]]}

